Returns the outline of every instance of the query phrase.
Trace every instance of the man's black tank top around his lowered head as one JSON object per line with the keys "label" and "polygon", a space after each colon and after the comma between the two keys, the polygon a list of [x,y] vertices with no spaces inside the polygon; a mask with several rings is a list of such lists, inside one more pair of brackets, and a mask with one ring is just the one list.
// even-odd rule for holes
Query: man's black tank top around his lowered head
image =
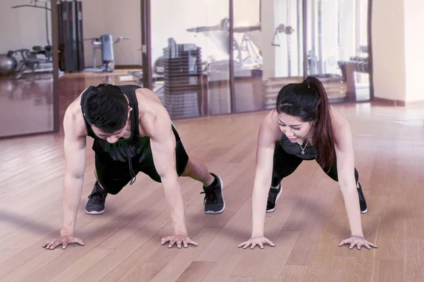
{"label": "man's black tank top around his lowered head", "polygon": [[[93,86],[92,86],[93,87]],[[139,130],[139,103],[137,102],[136,90],[141,88],[137,85],[119,85],[119,89],[129,100],[129,106],[132,111],[130,112],[131,121],[131,135],[129,138],[124,139],[123,137],[115,143],[109,143],[107,140],[95,135],[90,124],[86,120],[86,116],[83,116],[84,122],[86,123],[87,135],[93,137],[93,150],[98,154],[108,154],[109,157],[114,161],[129,161],[132,157],[140,155],[144,149],[150,147],[150,137],[140,136]],[[81,109],[83,108],[84,102],[86,101],[86,94],[90,90],[83,92],[81,96]]]}

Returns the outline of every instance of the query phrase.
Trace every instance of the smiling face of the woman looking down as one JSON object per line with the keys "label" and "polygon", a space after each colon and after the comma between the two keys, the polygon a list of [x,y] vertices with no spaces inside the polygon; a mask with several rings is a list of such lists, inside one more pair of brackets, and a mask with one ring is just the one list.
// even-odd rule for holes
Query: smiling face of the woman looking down
{"label": "smiling face of the woman looking down", "polygon": [[304,122],[298,116],[280,113],[278,114],[278,125],[291,142],[299,142],[312,137],[313,121]]}

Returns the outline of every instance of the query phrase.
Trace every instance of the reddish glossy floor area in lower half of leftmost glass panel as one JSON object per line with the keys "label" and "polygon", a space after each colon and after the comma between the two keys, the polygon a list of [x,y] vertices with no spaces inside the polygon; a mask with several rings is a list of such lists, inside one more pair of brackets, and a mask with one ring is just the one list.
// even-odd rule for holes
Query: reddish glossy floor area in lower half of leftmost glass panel
{"label": "reddish glossy floor area in lower half of leftmost glass panel", "polygon": [[0,137],[53,130],[53,75],[0,80]]}

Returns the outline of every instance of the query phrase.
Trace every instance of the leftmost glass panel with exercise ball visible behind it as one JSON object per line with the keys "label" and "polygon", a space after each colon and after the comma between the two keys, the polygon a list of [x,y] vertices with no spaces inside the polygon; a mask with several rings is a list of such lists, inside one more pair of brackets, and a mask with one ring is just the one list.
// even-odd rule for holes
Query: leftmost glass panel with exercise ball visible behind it
{"label": "leftmost glass panel with exercise ball visible behind it", "polygon": [[54,130],[50,1],[0,1],[0,137]]}

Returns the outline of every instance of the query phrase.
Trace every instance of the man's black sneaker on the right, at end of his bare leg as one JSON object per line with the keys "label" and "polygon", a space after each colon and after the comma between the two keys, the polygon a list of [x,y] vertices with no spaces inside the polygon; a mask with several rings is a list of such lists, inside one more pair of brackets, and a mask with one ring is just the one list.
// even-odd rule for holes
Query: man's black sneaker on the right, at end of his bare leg
{"label": "man's black sneaker on the right, at end of his bare leg", "polygon": [[201,194],[205,194],[205,214],[220,214],[225,209],[223,180],[214,173],[211,173],[211,175],[215,180],[208,187],[204,186],[204,192],[201,192]]}

